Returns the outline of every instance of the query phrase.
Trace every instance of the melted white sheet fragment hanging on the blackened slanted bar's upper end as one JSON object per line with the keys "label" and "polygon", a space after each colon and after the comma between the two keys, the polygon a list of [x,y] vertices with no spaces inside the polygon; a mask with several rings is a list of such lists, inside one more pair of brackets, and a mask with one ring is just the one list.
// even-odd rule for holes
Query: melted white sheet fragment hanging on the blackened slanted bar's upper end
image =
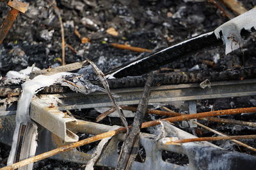
{"label": "melted white sheet fragment hanging on the blackened slanted bar's upper end", "polygon": [[226,45],[226,55],[244,44],[241,31],[253,32],[256,29],[256,8],[253,8],[242,15],[220,25],[215,29],[214,34],[218,39],[222,39]]}

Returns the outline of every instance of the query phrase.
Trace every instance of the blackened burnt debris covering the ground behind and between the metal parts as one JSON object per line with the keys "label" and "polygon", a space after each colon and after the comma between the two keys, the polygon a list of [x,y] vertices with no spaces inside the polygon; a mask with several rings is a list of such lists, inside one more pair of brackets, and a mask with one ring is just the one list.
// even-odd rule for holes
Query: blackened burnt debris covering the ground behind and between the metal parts
{"label": "blackened burnt debris covering the ground behind and between the metal parts", "polygon": [[[7,0],[0,1],[0,23],[8,14],[10,8],[6,5]],[[44,69],[47,67],[60,66],[61,58],[61,33],[60,23],[56,13],[48,1],[26,1],[29,10],[24,15],[19,15],[12,29],[0,45],[0,73],[4,76],[7,71],[19,71],[27,66],[36,64],[36,67]],[[93,60],[99,68],[106,72],[115,67],[148,53],[137,53],[129,50],[113,48],[110,43],[127,43],[131,46],[160,50],[161,48],[175,45],[180,41],[193,36],[213,31],[219,25],[228,21],[220,10],[208,1],[187,2],[184,1],[125,1],[125,0],[56,0],[61,11],[61,17],[65,28],[65,41],[76,50],[70,50],[66,46],[65,60],[68,63],[83,61],[86,58]],[[249,10],[256,6],[256,1],[243,0],[241,3]],[[84,20],[91,20],[93,25],[85,24]],[[118,36],[106,32],[110,27],[115,28]],[[90,38],[89,43],[81,43],[74,34],[74,29],[82,37]],[[241,50],[236,50],[225,55],[225,46],[204,48],[199,52],[188,54],[185,59],[166,63],[171,69],[189,71],[197,65],[200,70],[223,71],[232,69],[234,66],[256,65],[255,35],[247,38],[248,41]],[[214,67],[207,66],[202,60],[216,60]],[[198,101],[197,108],[200,111],[209,111],[228,108],[242,108],[256,106],[255,97],[233,97],[229,99],[214,99]],[[169,105],[176,111],[186,111],[182,108]],[[188,111],[188,110],[187,110]],[[95,110],[84,110],[74,113],[84,120],[95,121],[99,115]],[[87,115],[87,116],[86,116]],[[88,116],[89,115],[89,116]],[[155,117],[163,118],[163,117]],[[253,115],[236,115],[226,118],[236,120],[254,121]],[[152,120],[147,116],[146,120]],[[131,124],[132,119],[129,119]],[[118,118],[102,120],[103,124],[120,125]],[[239,125],[224,125],[208,122],[221,132],[230,135],[253,134],[255,128]],[[189,129],[184,129],[191,131]],[[148,132],[147,130],[143,130]],[[213,136],[211,132],[198,128],[198,136]],[[255,147],[255,140],[243,140],[250,146]],[[214,144],[232,151],[238,151],[255,155],[236,144],[218,141]],[[83,147],[80,148],[81,150]],[[88,148],[86,148],[88,149]],[[6,158],[10,147],[0,145],[0,167],[6,164]],[[166,161],[180,164],[188,164],[188,161],[180,155],[173,156],[172,153],[163,153]],[[182,160],[185,160],[182,162]],[[42,160],[35,163],[34,169],[83,169],[83,165],[74,162],[61,162],[57,160]],[[102,167],[96,167],[102,169]],[[108,168],[106,168],[108,169]]]}

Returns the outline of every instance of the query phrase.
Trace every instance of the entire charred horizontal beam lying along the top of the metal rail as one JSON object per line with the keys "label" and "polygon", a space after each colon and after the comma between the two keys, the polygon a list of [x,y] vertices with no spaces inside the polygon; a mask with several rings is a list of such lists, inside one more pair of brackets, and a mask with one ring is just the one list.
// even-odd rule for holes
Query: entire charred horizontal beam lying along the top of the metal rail
{"label": "entire charred horizontal beam lying along the top of the metal rail", "polygon": [[[172,72],[154,74],[154,85],[172,85],[179,83],[198,83],[206,79],[209,81],[222,80],[244,80],[256,77],[256,66],[244,67],[241,69],[225,70],[225,71],[194,71],[194,72]],[[127,87],[143,87],[147,81],[147,74],[142,76],[128,76],[125,78],[109,79],[110,89],[127,88]],[[94,85],[101,85],[100,81],[92,81]],[[6,97],[8,94],[20,93],[21,87],[19,85],[0,86],[0,96]],[[60,85],[52,85],[45,87],[39,94],[52,94],[70,92],[68,87]]]}

